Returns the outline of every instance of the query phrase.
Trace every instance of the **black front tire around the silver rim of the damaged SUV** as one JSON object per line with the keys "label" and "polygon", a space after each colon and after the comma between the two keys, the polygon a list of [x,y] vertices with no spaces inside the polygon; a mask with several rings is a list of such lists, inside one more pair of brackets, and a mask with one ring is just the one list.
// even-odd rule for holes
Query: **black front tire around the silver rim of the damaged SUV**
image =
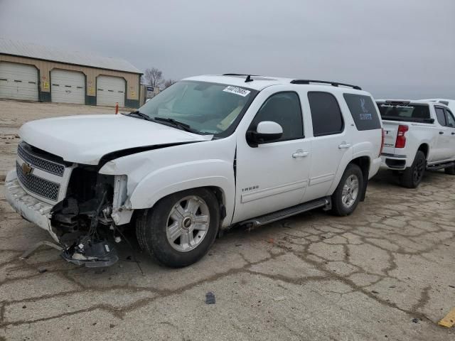
{"label": "black front tire around the silver rim of the damaged SUV", "polygon": [[[198,197],[203,200],[205,208],[208,209],[208,227],[204,237],[194,249],[178,251],[168,241],[168,224],[171,219],[169,215],[186,197]],[[136,234],[141,249],[166,266],[180,268],[196,263],[207,253],[215,242],[219,225],[220,209],[215,194],[205,188],[195,188],[168,195],[159,200],[153,208],[141,212],[137,217]],[[183,231],[183,227],[180,228]],[[193,232],[187,233],[193,234]],[[195,240],[197,238],[198,235]]]}

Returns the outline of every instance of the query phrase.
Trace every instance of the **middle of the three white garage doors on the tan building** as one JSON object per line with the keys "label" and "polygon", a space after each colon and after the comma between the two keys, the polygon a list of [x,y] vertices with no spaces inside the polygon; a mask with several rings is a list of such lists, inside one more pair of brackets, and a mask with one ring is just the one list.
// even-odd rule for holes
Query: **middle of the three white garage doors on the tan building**
{"label": "middle of the three white garage doors on the tan building", "polygon": [[85,104],[85,75],[68,70],[50,71],[50,99],[58,103]]}

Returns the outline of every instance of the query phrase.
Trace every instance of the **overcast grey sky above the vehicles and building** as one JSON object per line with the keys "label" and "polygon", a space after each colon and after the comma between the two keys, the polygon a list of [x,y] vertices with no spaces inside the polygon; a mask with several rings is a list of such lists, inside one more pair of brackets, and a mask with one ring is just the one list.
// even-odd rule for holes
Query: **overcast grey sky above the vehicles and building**
{"label": "overcast grey sky above the vehicles and building", "polygon": [[240,72],[455,99],[455,0],[0,0],[0,37],[176,80]]}

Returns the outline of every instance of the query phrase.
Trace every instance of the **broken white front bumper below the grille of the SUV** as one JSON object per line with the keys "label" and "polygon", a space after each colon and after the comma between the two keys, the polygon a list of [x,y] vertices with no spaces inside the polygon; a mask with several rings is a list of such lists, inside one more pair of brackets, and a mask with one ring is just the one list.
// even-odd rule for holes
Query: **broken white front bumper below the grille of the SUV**
{"label": "broken white front bumper below the grille of the SUV", "polygon": [[53,237],[55,242],[59,242],[57,235],[53,232],[50,225],[50,210],[53,205],[43,202],[28,195],[19,185],[16,170],[10,171],[5,179],[5,196],[9,205],[18,212],[23,219],[37,224],[45,229]]}

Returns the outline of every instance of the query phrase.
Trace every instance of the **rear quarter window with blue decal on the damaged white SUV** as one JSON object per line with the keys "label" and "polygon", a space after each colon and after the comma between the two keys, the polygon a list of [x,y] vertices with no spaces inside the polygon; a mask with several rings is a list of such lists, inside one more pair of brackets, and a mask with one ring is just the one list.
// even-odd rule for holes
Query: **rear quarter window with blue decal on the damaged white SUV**
{"label": "rear quarter window with blue decal on the damaged white SUV", "polygon": [[357,130],[380,129],[376,106],[370,96],[363,94],[343,94]]}

